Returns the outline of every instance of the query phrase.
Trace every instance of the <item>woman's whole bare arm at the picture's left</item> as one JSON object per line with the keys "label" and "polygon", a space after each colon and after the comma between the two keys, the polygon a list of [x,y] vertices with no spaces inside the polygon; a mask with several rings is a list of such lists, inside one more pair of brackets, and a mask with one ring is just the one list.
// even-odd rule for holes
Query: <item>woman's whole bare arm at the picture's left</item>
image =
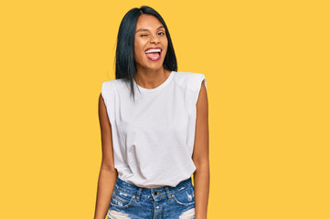
{"label": "woman's whole bare arm at the picture's left", "polygon": [[112,192],[118,174],[113,164],[112,127],[101,95],[99,98],[99,120],[101,127],[102,162],[94,219],[105,218],[110,206]]}

